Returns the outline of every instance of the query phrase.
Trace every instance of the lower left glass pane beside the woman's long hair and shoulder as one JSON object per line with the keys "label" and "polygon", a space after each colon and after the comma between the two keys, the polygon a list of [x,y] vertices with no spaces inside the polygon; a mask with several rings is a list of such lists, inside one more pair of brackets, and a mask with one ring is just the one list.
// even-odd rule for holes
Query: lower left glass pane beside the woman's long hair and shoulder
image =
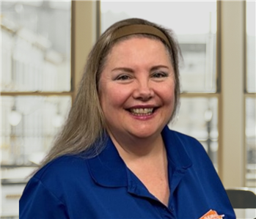
{"label": "lower left glass pane beside the woman's long hair and shoulder", "polygon": [[29,174],[64,122],[70,96],[1,96],[1,216],[18,215]]}

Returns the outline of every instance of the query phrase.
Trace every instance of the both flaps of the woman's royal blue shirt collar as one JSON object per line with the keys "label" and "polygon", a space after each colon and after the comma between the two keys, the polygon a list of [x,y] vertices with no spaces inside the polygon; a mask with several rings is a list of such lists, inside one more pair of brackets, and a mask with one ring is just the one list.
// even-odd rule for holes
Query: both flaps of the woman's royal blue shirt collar
{"label": "both flaps of the woman's royal blue shirt collar", "polygon": [[[191,166],[183,142],[177,133],[166,126],[162,131],[164,144],[167,147],[168,162],[175,170],[186,171]],[[128,186],[128,168],[117,152],[111,138],[108,137],[106,147],[96,157],[87,160],[89,171],[95,183],[104,187],[118,188]]]}

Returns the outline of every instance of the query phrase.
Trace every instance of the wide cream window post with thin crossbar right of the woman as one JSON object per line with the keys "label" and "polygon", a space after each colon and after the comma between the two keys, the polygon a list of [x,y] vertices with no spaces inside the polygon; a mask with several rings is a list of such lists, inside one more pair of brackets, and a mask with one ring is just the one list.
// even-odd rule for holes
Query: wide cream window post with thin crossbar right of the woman
{"label": "wide cream window post with thin crossbar right of the woman", "polygon": [[[216,1],[216,4],[216,92],[186,92],[180,97],[218,99],[219,177],[225,187],[241,187],[246,185],[245,100],[255,97],[246,93],[245,83],[246,0]],[[97,13],[100,20],[100,4]]]}

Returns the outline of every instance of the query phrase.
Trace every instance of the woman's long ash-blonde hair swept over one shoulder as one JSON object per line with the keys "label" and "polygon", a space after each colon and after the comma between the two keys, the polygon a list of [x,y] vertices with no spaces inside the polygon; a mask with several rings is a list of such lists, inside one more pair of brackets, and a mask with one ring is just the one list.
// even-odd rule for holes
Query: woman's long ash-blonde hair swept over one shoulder
{"label": "woman's long ash-blonde hair swept over one shoulder", "polygon": [[[155,38],[161,40],[169,52],[172,65],[175,70],[175,108],[171,120],[175,116],[179,104],[180,81],[179,81],[179,55],[180,49],[175,40],[172,31],[164,29],[155,23],[145,21],[139,18],[131,18],[114,23],[99,38],[98,42],[89,53],[87,64],[84,69],[84,75],[81,79],[76,100],[70,109],[67,121],[59,134],[56,136],[54,146],[43,160],[41,166],[62,155],[78,155],[84,151],[90,151],[90,155],[95,156],[103,149],[106,136],[106,124],[103,112],[100,108],[98,97],[98,81],[100,73],[103,70],[106,58],[115,43],[125,40],[129,37],[138,36],[138,34],[129,37],[114,39],[114,32],[122,26],[133,24],[143,24],[153,26],[163,32],[169,40],[169,45],[160,37],[150,34],[139,34],[142,37]],[[40,166],[40,167],[41,167]]]}

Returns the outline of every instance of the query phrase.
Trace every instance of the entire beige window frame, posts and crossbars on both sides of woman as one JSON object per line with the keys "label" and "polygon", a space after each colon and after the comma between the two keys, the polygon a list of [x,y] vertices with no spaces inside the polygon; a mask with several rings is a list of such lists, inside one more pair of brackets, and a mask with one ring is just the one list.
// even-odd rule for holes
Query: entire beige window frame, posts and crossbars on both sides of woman
{"label": "entire beige window frame, posts and crossbars on both sides of woman", "polygon": [[[235,25],[230,26],[230,23],[235,23]],[[246,0],[217,1],[217,91],[216,93],[183,93],[180,95],[181,97],[216,97],[218,99],[218,167],[219,176],[225,187],[245,186],[245,100],[246,97],[255,98],[255,93],[246,92],[245,30]],[[72,0],[70,92],[1,92],[0,95],[70,95],[74,100],[87,55],[99,34],[100,1]],[[230,39],[235,40],[235,43],[232,43]],[[230,78],[232,78],[232,84]],[[235,98],[230,98],[230,94]],[[240,106],[234,107],[237,105]],[[235,129],[232,129],[233,127]]]}

